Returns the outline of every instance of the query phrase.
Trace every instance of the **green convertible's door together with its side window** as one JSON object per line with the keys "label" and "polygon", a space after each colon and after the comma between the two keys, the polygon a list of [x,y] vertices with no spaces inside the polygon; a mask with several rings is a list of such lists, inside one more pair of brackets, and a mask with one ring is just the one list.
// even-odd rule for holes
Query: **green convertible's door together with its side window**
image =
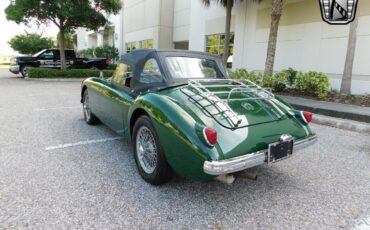
{"label": "green convertible's door together with its side window", "polygon": [[117,64],[111,80],[107,81],[107,88],[102,90],[100,108],[103,122],[120,135],[128,131],[128,109],[132,105],[134,96],[131,94],[130,81],[133,66],[127,63]]}

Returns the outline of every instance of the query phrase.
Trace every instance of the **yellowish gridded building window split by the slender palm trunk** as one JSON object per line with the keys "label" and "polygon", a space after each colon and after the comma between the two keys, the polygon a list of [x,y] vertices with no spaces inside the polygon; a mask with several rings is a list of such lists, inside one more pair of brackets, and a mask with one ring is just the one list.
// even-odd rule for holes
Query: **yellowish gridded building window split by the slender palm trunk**
{"label": "yellowish gridded building window split by the slender palm trunk", "polygon": [[[222,56],[224,54],[225,34],[206,36],[206,52]],[[230,33],[229,55],[234,53],[234,33]]]}

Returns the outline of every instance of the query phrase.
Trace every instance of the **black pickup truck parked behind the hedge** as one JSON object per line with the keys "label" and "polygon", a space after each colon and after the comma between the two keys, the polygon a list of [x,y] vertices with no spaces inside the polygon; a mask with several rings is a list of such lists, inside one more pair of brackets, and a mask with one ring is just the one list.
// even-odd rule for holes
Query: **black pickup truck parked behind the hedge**
{"label": "black pickup truck parked behind the hedge", "polygon": [[[74,50],[65,50],[65,54],[69,69],[106,69],[110,63],[107,58],[77,58]],[[29,67],[60,68],[59,49],[45,49],[30,57],[16,57],[9,70],[14,74],[21,73],[23,77],[27,77]]]}

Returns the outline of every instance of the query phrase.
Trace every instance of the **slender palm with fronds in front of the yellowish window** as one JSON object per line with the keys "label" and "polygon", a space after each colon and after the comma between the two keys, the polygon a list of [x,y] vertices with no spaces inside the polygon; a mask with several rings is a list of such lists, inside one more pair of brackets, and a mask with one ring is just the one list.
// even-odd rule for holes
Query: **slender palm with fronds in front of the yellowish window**
{"label": "slender palm with fronds in front of the yellowish window", "polygon": [[[230,26],[231,26],[231,11],[237,0],[202,0],[205,6],[209,6],[211,1],[220,4],[226,8],[226,24],[225,24],[225,46],[223,52],[224,63],[227,62],[227,59],[230,55]],[[240,0],[243,1],[243,0]],[[253,2],[261,2],[261,0],[252,0]]]}

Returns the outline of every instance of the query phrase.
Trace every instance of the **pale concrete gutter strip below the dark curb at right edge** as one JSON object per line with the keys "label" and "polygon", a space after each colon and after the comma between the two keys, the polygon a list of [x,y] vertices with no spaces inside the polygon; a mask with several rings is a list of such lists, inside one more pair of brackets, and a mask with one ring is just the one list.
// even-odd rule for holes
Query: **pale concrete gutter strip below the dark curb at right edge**
{"label": "pale concrete gutter strip below the dark curb at right edge", "polygon": [[335,117],[328,117],[328,116],[319,115],[319,114],[314,114],[312,122],[319,124],[319,125],[326,125],[326,126],[339,128],[339,129],[345,129],[345,130],[370,134],[370,124],[369,123],[335,118]]}

